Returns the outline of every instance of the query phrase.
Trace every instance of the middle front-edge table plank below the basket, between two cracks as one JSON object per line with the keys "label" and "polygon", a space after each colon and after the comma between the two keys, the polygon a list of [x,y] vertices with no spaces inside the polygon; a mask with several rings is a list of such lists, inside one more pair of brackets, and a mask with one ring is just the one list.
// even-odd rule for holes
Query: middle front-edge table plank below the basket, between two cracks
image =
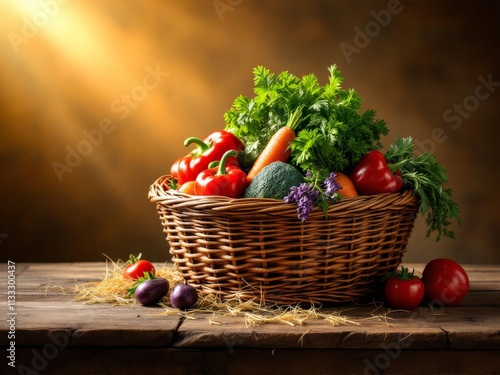
{"label": "middle front-edge table plank below the basket, between two cracks", "polygon": [[[219,321],[219,320],[218,320]],[[405,348],[447,347],[446,334],[437,326],[420,327],[416,322],[403,327],[380,322],[361,326],[333,327],[320,321],[302,326],[263,325],[242,329],[242,321],[221,319],[208,326],[204,319],[185,321],[178,331],[176,348],[249,347],[294,349],[378,349],[398,342]],[[418,329],[417,329],[418,328]]]}

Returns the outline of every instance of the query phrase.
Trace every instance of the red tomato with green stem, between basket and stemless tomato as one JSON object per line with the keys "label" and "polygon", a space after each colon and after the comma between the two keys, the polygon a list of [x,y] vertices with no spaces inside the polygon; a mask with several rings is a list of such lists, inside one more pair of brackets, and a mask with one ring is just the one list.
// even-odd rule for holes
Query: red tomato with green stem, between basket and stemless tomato
{"label": "red tomato with green stem, between basket and stemless tomato", "polygon": [[408,273],[407,268],[401,267],[400,273],[389,274],[385,283],[385,298],[391,307],[412,310],[424,299],[424,283],[413,272]]}

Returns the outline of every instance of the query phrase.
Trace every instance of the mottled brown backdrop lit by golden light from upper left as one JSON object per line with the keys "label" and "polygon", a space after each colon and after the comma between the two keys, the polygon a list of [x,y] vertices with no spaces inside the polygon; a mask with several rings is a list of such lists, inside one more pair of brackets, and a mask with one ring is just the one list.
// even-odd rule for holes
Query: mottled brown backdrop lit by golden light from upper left
{"label": "mottled brown backdrop lit by golden light from upper left", "polygon": [[[448,168],[462,225],[455,241],[436,244],[419,218],[405,259],[500,262],[500,87],[476,91],[480,77],[500,82],[498,4],[3,1],[1,260],[95,261],[139,251],[165,260],[147,192],[186,153],[182,141],[224,126],[234,98],[252,94],[256,65],[315,73],[324,83],[336,63],[345,87],[387,121],[387,145],[412,135],[429,146],[438,136],[432,152]],[[377,29],[373,12],[388,7],[391,19]],[[365,46],[358,30],[372,35]],[[355,41],[361,48],[347,56],[341,46]],[[446,117],[458,104],[469,110]],[[101,123],[107,133],[83,148],[83,132]],[[60,181],[53,163],[65,164],[79,145],[87,155]]]}

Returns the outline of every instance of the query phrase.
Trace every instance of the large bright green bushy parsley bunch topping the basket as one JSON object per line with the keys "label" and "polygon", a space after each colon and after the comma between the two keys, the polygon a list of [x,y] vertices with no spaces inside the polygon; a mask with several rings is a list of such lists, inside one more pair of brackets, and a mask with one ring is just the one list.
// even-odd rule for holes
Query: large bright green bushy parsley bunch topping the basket
{"label": "large bright green bushy parsley bunch topping the basket", "polygon": [[245,169],[300,107],[291,164],[318,181],[381,148],[380,136],[388,133],[385,122],[376,120],[371,110],[361,112],[359,95],[342,89],[343,78],[335,65],[328,70],[324,86],[313,74],[298,78],[287,71],[276,75],[262,66],[253,70],[255,97],[237,97],[224,115],[226,130],[245,143],[241,157]]}

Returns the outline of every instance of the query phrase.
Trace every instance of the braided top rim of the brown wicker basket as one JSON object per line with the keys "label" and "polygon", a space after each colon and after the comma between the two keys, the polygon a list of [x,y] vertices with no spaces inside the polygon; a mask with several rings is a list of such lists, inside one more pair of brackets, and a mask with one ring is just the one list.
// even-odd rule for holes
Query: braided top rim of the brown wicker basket
{"label": "braided top rim of the brown wicker basket", "polygon": [[[211,207],[214,211],[234,211],[235,208],[242,211],[256,210],[259,212],[279,211],[291,212],[296,215],[297,206],[293,203],[286,203],[283,200],[272,198],[229,198],[218,195],[190,195],[179,192],[178,190],[168,188],[168,181],[171,175],[163,175],[159,177],[151,186],[148,193],[148,199],[155,204],[174,205],[175,207]],[[400,210],[408,205],[417,205],[419,199],[412,190],[404,189],[396,193],[384,193],[378,195],[360,195],[356,197],[343,197],[340,201],[330,204],[327,214],[335,212],[364,211],[370,208],[385,207],[388,209]],[[315,207],[311,212],[310,217],[324,217],[324,212],[319,207]]]}

